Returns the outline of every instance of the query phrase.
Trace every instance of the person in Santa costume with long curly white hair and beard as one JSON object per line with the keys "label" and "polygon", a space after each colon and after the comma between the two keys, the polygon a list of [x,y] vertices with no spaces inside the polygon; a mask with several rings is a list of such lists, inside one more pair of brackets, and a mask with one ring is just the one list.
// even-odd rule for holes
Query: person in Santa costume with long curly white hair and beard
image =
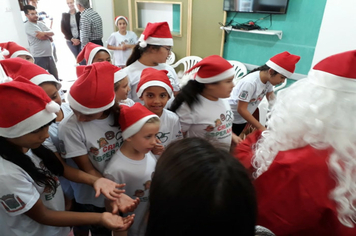
{"label": "person in Santa costume with long curly white hair and beard", "polygon": [[356,235],[355,65],[356,50],[316,64],[278,93],[267,130],[237,146],[257,222],[276,235]]}

